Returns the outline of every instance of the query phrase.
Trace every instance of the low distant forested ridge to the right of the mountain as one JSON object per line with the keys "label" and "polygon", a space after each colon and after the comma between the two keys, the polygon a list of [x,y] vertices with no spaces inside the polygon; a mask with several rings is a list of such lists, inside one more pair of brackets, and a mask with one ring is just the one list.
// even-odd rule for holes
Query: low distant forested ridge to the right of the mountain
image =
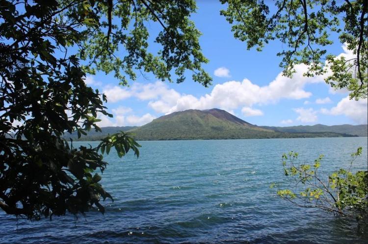
{"label": "low distant forested ridge to the right of the mountain", "polygon": [[342,125],[324,125],[324,124],[315,124],[315,125],[298,125],[298,126],[288,126],[288,127],[276,127],[276,126],[260,126],[265,129],[270,129],[274,131],[280,132],[335,132],[335,133],[345,133],[350,135],[357,136],[368,136],[368,125],[360,124],[360,125],[350,125],[350,124],[342,124]]}

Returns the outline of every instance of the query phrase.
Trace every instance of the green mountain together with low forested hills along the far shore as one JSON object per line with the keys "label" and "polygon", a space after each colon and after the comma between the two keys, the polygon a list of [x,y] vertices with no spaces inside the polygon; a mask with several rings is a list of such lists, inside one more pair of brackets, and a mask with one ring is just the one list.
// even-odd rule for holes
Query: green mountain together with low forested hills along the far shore
{"label": "green mountain together with low forested hills along the far shore", "polygon": [[367,136],[362,125],[299,125],[289,127],[257,126],[221,110],[185,110],[161,116],[143,126],[102,127],[78,138],[76,132],[65,136],[74,141],[100,141],[105,136],[128,131],[136,140],[206,140],[253,138],[314,138]]}

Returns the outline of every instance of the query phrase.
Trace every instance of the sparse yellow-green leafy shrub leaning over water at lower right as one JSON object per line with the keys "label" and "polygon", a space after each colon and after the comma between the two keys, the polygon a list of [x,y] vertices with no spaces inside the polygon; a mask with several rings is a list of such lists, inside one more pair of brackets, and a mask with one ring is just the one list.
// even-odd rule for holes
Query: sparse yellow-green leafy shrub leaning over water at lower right
{"label": "sparse yellow-green leafy shrub leaning over water at lower right", "polygon": [[[349,169],[333,172],[326,179],[319,171],[323,155],[313,164],[296,164],[298,153],[282,156],[285,175],[296,182],[294,189],[279,189],[277,194],[299,207],[320,208],[338,215],[352,215],[357,221],[368,221],[368,172],[352,173],[362,147],[352,153]],[[271,185],[273,187],[273,185]]]}

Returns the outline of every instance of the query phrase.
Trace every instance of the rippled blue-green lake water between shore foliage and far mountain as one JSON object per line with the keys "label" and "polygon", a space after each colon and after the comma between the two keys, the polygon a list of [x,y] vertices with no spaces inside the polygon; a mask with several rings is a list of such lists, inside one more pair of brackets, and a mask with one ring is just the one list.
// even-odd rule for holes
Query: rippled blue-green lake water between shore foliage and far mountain
{"label": "rippled blue-green lake water between shore foliage and far mountain", "polygon": [[[87,143],[79,143],[87,144]],[[97,144],[90,142],[91,145]],[[106,213],[40,221],[0,212],[0,243],[367,243],[353,219],[303,209],[280,199],[281,155],[326,172],[367,169],[367,137],[140,142],[139,159],[111,150],[103,186],[115,201]]]}

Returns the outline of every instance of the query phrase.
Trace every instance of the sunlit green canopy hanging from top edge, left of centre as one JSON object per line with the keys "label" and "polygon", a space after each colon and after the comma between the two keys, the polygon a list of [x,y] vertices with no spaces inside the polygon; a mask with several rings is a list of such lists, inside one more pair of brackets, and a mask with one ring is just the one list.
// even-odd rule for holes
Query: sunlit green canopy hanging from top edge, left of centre
{"label": "sunlit green canopy hanging from top edge, left of centre", "polygon": [[[201,67],[208,62],[199,46],[201,33],[189,19],[195,10],[194,0],[91,0],[69,8],[66,16],[67,20],[82,18],[87,28],[78,45],[80,58],[88,60],[84,66],[88,73],[113,72],[126,85],[127,77],[135,79],[134,69],[151,72],[162,81],[172,81],[174,71],[178,83],[190,70],[193,80],[207,86],[211,78]],[[63,20],[59,23],[64,24]],[[157,55],[148,51],[150,22],[161,27],[155,39],[161,46]]]}

